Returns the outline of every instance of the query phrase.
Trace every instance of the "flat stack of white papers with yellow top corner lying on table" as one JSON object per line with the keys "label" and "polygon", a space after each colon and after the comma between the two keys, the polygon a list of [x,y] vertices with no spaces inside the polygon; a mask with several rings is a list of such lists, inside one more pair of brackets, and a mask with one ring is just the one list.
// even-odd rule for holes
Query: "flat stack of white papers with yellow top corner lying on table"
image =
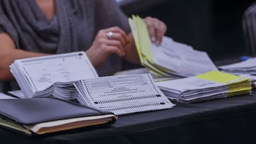
{"label": "flat stack of white papers with yellow top corner lying on table", "polygon": [[252,89],[247,77],[219,71],[156,82],[156,85],[169,99],[184,103],[250,94]]}

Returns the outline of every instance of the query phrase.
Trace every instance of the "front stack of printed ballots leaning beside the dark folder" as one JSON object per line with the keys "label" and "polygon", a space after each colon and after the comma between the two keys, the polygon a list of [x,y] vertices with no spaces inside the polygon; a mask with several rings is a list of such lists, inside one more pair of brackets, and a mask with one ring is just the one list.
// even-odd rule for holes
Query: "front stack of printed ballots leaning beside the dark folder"
{"label": "front stack of printed ballots leaning beside the dark folder", "polygon": [[116,115],[170,109],[174,104],[156,87],[151,74],[117,75],[74,83],[78,101]]}

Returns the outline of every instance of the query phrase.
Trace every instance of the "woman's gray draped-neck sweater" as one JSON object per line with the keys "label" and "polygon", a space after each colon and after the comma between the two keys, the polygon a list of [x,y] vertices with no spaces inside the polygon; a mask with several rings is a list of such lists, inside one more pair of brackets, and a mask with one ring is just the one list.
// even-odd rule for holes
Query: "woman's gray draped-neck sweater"
{"label": "woman's gray draped-neck sweater", "polygon": [[[0,0],[0,33],[16,48],[51,54],[87,50],[100,29],[119,26],[129,31],[127,16],[114,0],[55,0],[56,13],[48,21],[33,0]],[[117,55],[97,68],[100,76],[121,70]]]}

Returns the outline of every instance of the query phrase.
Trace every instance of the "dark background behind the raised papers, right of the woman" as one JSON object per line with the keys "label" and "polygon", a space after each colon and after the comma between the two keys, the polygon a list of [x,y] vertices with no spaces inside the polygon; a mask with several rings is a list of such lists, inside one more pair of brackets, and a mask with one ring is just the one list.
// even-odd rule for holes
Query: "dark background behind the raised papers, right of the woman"
{"label": "dark background behind the raised papers, right of the woman", "polygon": [[[128,0],[129,1],[129,0]],[[121,5],[127,16],[154,16],[168,26],[166,35],[204,50],[212,60],[250,55],[242,16],[252,0],[137,0]]]}

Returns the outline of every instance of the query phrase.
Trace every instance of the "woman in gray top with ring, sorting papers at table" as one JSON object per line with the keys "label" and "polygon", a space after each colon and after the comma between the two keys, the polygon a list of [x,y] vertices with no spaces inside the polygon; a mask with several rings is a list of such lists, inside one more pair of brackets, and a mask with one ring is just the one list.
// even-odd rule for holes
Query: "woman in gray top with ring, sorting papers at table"
{"label": "woman in gray top with ring, sorting papers at table", "polygon": [[[144,21],[161,43],[166,25]],[[121,70],[122,60],[139,64],[128,18],[114,0],[0,1],[0,80],[16,83],[9,70],[16,59],[81,50],[100,76]]]}

